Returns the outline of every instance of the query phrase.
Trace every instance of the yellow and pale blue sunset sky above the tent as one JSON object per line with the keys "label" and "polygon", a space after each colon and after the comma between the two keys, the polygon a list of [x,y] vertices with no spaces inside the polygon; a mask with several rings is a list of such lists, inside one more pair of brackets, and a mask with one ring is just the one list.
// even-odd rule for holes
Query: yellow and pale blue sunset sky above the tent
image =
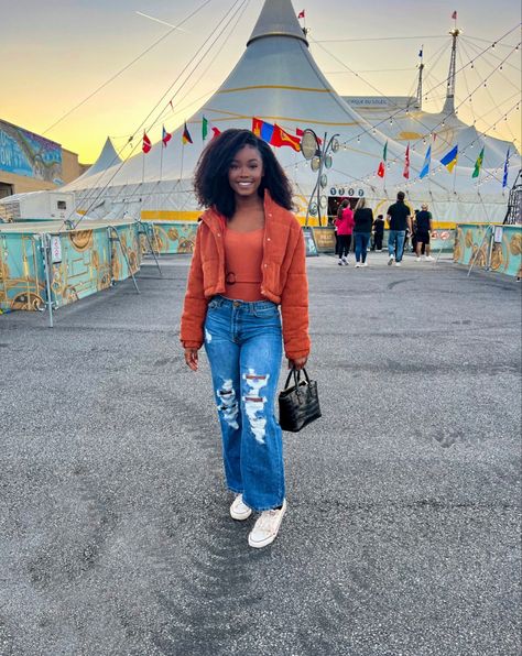
{"label": "yellow and pale blue sunset sky above the tent", "polygon": [[[117,147],[123,146],[198,48],[216,36],[216,24],[233,4],[232,0],[210,0],[203,7],[206,1],[19,0],[12,3],[2,14],[0,57],[4,66],[0,119],[57,141],[77,152],[84,163],[96,160],[107,135]],[[262,0],[236,3],[229,28],[175,97],[175,111],[165,113],[168,130],[189,118],[227,77],[244,51],[262,6]],[[472,70],[457,78],[457,103],[480,87],[459,117],[467,122],[475,119],[479,130],[500,119],[492,134],[510,141],[516,139],[520,150],[522,109],[513,109],[508,120],[503,117],[520,101],[522,48],[513,52],[502,69],[498,69],[520,42],[519,0],[501,3],[294,0],[293,6],[296,12],[306,11],[311,52],[341,95],[414,95],[417,53],[424,44],[427,111],[437,111],[443,105],[444,85],[433,92],[431,89],[447,75],[448,30],[454,25],[450,15],[457,10],[457,24],[464,31],[457,67],[489,47]],[[180,24],[198,8],[202,9],[183,23],[183,31],[171,34],[167,25],[137,13]],[[130,65],[164,35],[161,43]],[[491,48],[496,41],[499,43]],[[483,87],[481,80],[496,68]],[[170,97],[183,79],[173,87]],[[78,109],[51,128],[80,102]],[[161,124],[152,127],[150,132],[151,139],[157,141]]]}

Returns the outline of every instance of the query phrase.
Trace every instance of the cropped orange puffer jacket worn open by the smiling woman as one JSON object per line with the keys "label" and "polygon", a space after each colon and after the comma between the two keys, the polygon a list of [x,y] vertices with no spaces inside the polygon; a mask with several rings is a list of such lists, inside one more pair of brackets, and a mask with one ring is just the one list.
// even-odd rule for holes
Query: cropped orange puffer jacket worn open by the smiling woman
{"label": "cropped orange puffer jacket worn open by the smiling woman", "polygon": [[[207,209],[197,229],[188,273],[180,339],[186,349],[203,345],[208,300],[225,293],[225,219]],[[303,232],[294,215],[264,196],[264,243],[261,294],[281,304],[286,358],[309,353],[308,281]]]}

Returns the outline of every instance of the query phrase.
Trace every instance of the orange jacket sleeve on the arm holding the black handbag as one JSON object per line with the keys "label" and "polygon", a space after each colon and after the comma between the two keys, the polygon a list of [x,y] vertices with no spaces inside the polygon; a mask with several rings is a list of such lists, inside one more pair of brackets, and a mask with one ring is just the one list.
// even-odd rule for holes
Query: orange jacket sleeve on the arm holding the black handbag
{"label": "orange jacket sleeve on the arm holding the black handbag", "polygon": [[291,254],[286,283],[281,294],[284,352],[289,360],[307,357],[311,346],[308,336],[306,250],[301,227],[293,240],[292,249],[293,252]]}

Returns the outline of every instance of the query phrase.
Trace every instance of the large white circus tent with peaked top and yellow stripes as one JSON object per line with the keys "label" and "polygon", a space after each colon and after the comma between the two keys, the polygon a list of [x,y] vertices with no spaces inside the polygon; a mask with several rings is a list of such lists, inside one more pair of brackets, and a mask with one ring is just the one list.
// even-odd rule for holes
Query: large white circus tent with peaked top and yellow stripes
{"label": "large white circus tent with peaked top and yellow stripes", "polygon": [[[325,196],[351,189],[355,195],[366,195],[374,209],[382,210],[399,189],[404,189],[412,206],[428,201],[439,221],[502,221],[508,195],[502,193],[501,160],[508,144],[481,139],[475,128],[461,123],[447,109],[443,112],[444,129],[439,125],[443,114],[417,111],[415,116],[407,109],[402,112],[404,116],[396,114],[390,130],[387,122],[376,121],[363,108],[359,111],[356,102],[350,105],[331,87],[309,53],[291,0],[265,0],[242,57],[219,90],[187,121],[193,144],[182,146],[182,125],[174,131],[167,147],[160,141],[146,155],[140,151],[124,163],[81,176],[65,189],[76,193],[77,208],[84,211],[96,205],[101,212],[116,211],[121,216],[194,219],[198,208],[192,177],[205,145],[203,118],[224,130],[251,128],[252,117],[258,117],[290,133],[311,128],[320,138],[339,135],[341,149],[326,172]],[[410,178],[405,181],[407,142],[414,140],[414,134],[429,134],[435,127],[441,128],[439,141],[434,144],[431,174],[418,178],[425,147],[417,144],[410,150]],[[466,142],[459,146],[458,165],[450,174],[437,157],[447,144],[463,135]],[[376,173],[384,144],[387,167],[380,178]],[[490,168],[485,167],[478,178],[472,178],[475,158],[482,145]],[[304,217],[317,174],[301,153],[290,147],[274,152],[294,184],[298,214]],[[514,146],[512,152],[510,179],[514,179],[520,167]]]}

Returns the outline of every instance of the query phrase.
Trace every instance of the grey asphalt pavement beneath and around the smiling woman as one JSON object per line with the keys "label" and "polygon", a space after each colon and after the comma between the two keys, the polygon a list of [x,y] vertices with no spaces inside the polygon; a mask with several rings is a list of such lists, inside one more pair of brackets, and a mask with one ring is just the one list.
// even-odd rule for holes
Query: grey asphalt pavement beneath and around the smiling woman
{"label": "grey asphalt pavement beneath and around the smiling woman", "polygon": [[2,656],[521,654],[520,283],[385,260],[308,260],[323,418],[264,549],[183,362],[188,256],[0,317]]}

